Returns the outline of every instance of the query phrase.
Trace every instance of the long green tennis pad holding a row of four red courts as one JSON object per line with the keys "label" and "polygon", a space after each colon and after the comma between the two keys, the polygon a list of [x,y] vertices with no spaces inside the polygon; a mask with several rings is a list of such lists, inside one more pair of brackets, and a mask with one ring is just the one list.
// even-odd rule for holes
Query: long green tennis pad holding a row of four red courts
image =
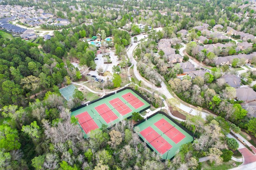
{"label": "long green tennis pad holding a row of four red courts", "polygon": [[90,137],[90,131],[102,127],[110,127],[130,117],[133,112],[140,112],[150,104],[130,89],[123,90],[112,96],[72,111],[71,115],[78,118],[84,138]]}

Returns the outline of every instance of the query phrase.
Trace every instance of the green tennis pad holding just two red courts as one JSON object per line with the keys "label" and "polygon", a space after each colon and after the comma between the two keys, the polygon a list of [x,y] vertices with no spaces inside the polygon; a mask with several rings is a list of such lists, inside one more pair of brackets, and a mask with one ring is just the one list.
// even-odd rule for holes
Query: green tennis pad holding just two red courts
{"label": "green tennis pad holding just two red courts", "polygon": [[134,127],[134,131],[162,159],[172,158],[182,144],[193,141],[190,134],[160,113]]}

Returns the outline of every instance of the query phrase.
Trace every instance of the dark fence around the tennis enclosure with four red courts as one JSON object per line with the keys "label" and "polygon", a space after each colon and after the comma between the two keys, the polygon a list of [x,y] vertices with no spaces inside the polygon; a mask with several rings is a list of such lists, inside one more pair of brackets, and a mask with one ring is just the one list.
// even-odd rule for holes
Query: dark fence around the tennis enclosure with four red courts
{"label": "dark fence around the tennis enclosure with four red courts", "polygon": [[[93,100],[92,102],[88,102],[88,103],[86,103],[86,104],[83,104],[83,105],[81,105],[81,106],[78,106],[78,107],[76,107],[76,108],[74,108],[74,109],[71,109],[70,111],[71,111],[71,112],[72,112],[72,111],[76,111],[76,110],[78,110],[78,109],[81,109],[82,107],[88,106],[88,105],[90,105],[90,104],[93,104],[93,103],[95,103],[95,102],[98,102],[98,101],[100,101],[100,100],[102,100],[102,99],[105,99],[105,98],[107,98],[107,97],[109,97],[109,96],[112,96],[112,95],[114,95],[114,94],[116,94],[116,93],[122,92],[122,91],[127,90],[127,89],[132,90],[135,94],[137,94],[137,95],[140,96],[143,100],[145,100],[148,104],[150,104],[150,101],[149,101],[147,98],[145,98],[144,96],[142,96],[142,94],[140,94],[139,92],[137,92],[136,90],[134,90],[134,89],[131,88],[131,87],[126,87],[126,88],[122,88],[122,89],[120,89],[120,90],[117,90],[116,92],[112,92],[112,93],[110,93],[110,94],[107,94],[107,95],[105,95],[105,96],[103,96],[103,97],[101,97],[101,98],[98,98],[98,99],[96,99],[96,100]],[[145,111],[145,110],[147,110],[147,109],[149,109],[149,108],[150,108],[150,106],[148,106],[148,107],[146,107],[146,108],[140,110],[139,113],[142,113],[143,111]],[[130,117],[131,117],[131,116],[127,117],[127,119],[130,119]]]}

